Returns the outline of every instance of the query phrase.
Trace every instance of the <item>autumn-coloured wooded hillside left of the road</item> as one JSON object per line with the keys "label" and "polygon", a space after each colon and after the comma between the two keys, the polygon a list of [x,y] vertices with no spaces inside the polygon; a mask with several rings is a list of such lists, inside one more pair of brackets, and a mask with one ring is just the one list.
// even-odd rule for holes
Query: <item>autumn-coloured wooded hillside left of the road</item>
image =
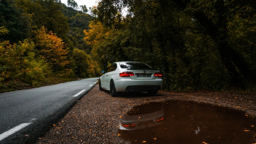
{"label": "autumn-coloured wooded hillside left of the road", "polygon": [[1,1],[0,92],[100,75],[83,41],[94,17],[86,6],[75,7],[53,0]]}

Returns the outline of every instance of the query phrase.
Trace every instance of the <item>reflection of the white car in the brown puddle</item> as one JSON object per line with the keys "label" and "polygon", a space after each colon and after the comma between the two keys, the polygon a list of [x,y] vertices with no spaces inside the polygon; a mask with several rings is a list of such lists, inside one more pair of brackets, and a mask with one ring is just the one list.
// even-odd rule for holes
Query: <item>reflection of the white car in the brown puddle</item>
{"label": "reflection of the white car in the brown puddle", "polygon": [[119,121],[120,130],[139,130],[155,127],[164,119],[161,103],[148,103],[132,108]]}

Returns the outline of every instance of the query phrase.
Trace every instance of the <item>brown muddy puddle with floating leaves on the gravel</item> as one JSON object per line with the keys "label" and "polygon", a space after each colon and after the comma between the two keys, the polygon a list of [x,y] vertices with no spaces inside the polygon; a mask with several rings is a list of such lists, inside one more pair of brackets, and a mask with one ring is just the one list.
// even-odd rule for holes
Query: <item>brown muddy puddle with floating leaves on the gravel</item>
{"label": "brown muddy puddle with floating leaves on the gravel", "polygon": [[254,118],[239,111],[167,101],[133,107],[120,119],[118,134],[132,143],[251,144],[256,143],[254,125]]}

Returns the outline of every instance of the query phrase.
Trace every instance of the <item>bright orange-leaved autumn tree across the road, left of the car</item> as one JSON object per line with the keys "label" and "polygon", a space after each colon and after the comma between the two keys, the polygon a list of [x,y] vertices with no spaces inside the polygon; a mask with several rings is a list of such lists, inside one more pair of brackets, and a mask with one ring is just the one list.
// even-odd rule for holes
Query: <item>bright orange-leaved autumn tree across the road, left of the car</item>
{"label": "bright orange-leaved autumn tree across the road, left of the car", "polygon": [[65,66],[70,63],[67,60],[68,48],[61,38],[58,38],[52,31],[47,32],[47,29],[42,26],[35,32],[34,40],[36,48],[39,50],[40,55],[52,67],[53,71],[64,70],[71,73],[72,70],[65,69]]}

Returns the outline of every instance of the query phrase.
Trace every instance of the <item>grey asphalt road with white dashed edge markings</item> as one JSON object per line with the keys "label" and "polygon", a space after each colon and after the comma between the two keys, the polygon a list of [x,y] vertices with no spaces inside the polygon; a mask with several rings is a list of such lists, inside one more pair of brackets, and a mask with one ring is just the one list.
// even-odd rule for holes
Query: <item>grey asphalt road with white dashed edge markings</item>
{"label": "grey asphalt road with white dashed edge markings", "polygon": [[[38,140],[38,137],[47,131],[52,123],[64,116],[76,100],[96,84],[97,79],[82,79],[1,93],[0,143],[32,143]],[[74,97],[75,95],[77,96]],[[22,123],[31,124],[3,139],[6,131]],[[24,137],[24,135],[27,136]]]}

